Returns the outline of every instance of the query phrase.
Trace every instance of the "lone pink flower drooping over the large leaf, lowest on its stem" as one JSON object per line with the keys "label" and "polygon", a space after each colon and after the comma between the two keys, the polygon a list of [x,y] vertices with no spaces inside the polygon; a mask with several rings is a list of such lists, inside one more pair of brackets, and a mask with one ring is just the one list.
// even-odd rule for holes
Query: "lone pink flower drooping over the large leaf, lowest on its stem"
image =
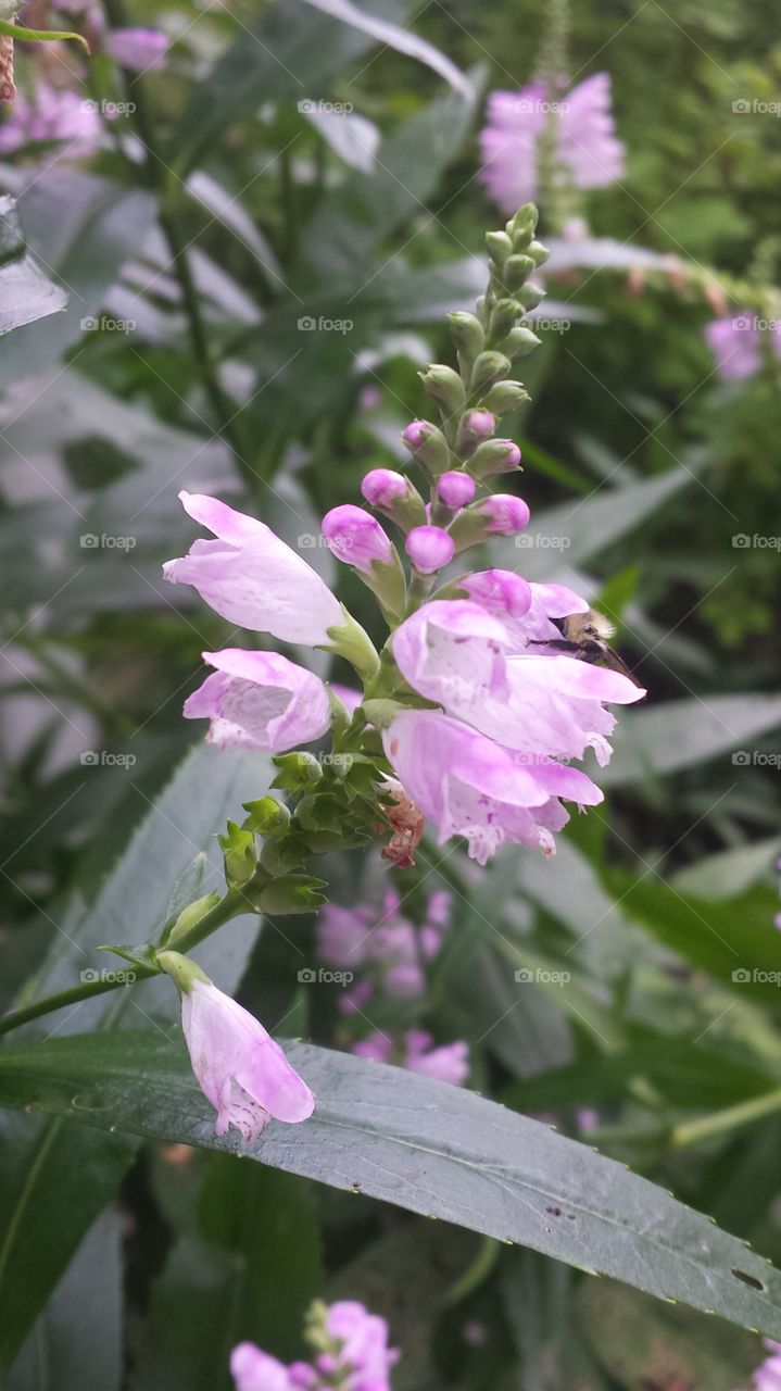
{"label": "lone pink flower drooping over the large leaf, lowest on its stem", "polygon": [[178,951],[161,951],[158,961],[181,990],[188,1053],[197,1084],[217,1111],[217,1134],[225,1135],[235,1125],[249,1145],[271,1116],[306,1121],[314,1096],[263,1024]]}

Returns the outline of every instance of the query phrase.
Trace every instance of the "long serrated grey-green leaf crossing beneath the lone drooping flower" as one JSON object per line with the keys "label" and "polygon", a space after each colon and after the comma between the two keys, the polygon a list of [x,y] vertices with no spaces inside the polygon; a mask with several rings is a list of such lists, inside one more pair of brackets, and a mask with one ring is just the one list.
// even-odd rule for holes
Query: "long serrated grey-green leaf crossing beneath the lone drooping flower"
{"label": "long serrated grey-green leaf crossing beneath the lone drooping flower", "polygon": [[[317,1095],[314,1117],[271,1123],[250,1159],[781,1335],[781,1274],[621,1164],[474,1092],[311,1045],[288,1052]],[[215,1136],[178,1031],[6,1047],[0,1104],[239,1149]]]}

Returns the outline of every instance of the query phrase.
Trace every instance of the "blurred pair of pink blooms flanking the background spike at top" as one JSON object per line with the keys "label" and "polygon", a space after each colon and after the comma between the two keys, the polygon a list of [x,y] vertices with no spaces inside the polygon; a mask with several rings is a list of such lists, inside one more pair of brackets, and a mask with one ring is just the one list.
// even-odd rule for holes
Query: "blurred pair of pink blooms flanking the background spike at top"
{"label": "blurred pair of pink blooms flanking the background spike at top", "polygon": [[[616,138],[610,110],[610,75],[595,72],[557,103],[556,159],[574,188],[603,188],[624,171],[624,146]],[[549,93],[542,82],[520,92],[493,92],[481,134],[481,178],[493,202],[509,217],[536,195],[538,143],[549,120]]]}

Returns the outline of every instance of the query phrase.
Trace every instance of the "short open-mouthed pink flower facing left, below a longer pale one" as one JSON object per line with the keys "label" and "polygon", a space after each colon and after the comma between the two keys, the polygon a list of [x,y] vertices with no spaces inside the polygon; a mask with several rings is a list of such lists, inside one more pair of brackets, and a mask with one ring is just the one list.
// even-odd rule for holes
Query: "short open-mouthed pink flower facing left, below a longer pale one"
{"label": "short open-mouthed pink flower facing left, below a longer pale one", "polygon": [[282,754],[329,727],[325,686],[286,657],[240,647],[202,655],[217,670],[185,701],[185,718],[211,721],[210,744]]}

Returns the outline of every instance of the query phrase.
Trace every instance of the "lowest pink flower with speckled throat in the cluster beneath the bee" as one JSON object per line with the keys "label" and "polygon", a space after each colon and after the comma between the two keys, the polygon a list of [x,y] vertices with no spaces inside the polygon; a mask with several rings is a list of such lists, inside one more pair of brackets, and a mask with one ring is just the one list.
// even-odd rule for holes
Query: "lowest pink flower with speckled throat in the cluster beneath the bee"
{"label": "lowest pink flower with speckled throat in the cluster beneath the bee", "polygon": [[568,821],[559,797],[602,801],[577,768],[541,755],[520,759],[460,721],[436,711],[402,711],[384,732],[385,753],[407,796],[439,832],[464,836],[484,865],[509,842],[552,854],[552,832]]}

